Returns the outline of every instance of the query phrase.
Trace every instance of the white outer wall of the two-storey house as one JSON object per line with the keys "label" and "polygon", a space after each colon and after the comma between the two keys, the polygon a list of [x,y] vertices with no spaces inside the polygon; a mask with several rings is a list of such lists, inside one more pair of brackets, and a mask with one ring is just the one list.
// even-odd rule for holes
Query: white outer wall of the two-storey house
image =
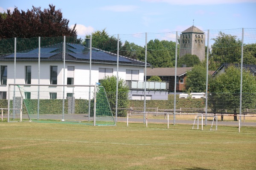
{"label": "white outer wall of the two-storey house", "polygon": [[[0,85],[0,91],[6,91],[7,97],[8,97],[8,84],[14,83],[14,62],[1,62],[0,65],[7,65],[7,85]],[[65,63],[65,79],[63,83],[63,62],[42,62],[40,63],[40,84],[50,84],[50,65],[57,65],[58,66],[58,78],[57,78],[57,84],[63,85],[67,84],[67,66],[74,66],[74,85],[89,85],[89,78],[90,78],[90,65],[86,62],[66,62]],[[25,66],[31,66],[31,84],[38,84],[38,62],[16,62],[16,84],[25,84]],[[96,82],[99,82],[99,68],[113,68],[113,75],[116,76],[117,74],[117,67],[114,64],[92,64],[91,69],[91,85],[95,85]],[[126,75],[126,69],[131,70],[139,70],[139,81],[144,80],[144,66],[141,67],[138,66],[126,66],[126,65],[119,65],[119,78],[125,80]],[[33,89],[32,89],[33,88]],[[50,92],[57,92],[57,98],[62,99],[63,93],[62,91],[63,87],[42,87],[40,91],[42,94],[41,96],[44,96],[44,98],[49,99],[49,93]],[[75,98],[88,98],[87,94],[82,94],[79,91],[84,91],[84,87],[76,88],[74,91],[74,97]],[[11,89],[12,90],[12,89]],[[37,99],[37,87],[28,86],[25,87],[24,90],[26,91],[34,91],[31,94],[32,99]],[[12,90],[13,91],[13,90]],[[44,93],[44,95],[43,95]],[[65,94],[64,97],[66,98],[67,93],[73,93],[73,88],[67,88],[65,87]],[[11,93],[11,96],[13,93]],[[18,95],[18,94],[17,94]],[[12,98],[12,97],[11,97]]]}

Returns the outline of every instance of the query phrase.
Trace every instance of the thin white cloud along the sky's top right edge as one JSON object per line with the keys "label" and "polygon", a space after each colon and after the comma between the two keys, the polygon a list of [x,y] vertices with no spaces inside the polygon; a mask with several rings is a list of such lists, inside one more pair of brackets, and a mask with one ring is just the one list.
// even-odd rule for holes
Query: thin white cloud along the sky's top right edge
{"label": "thin white cloud along the sky's top right edge", "polygon": [[172,5],[217,5],[231,3],[256,3],[256,0],[141,0],[149,3],[169,3]]}

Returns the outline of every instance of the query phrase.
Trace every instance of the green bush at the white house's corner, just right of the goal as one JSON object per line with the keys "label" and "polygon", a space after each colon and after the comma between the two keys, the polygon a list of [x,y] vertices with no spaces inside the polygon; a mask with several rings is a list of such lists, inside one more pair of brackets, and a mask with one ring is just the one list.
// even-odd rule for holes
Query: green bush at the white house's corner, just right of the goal
{"label": "green bush at the white house's corner, just right of the goal", "polygon": [[[116,108],[116,76],[105,77],[100,81],[100,85],[105,88],[110,103],[111,109]],[[127,108],[129,104],[128,100],[129,88],[125,85],[123,79],[118,80],[118,103],[117,108]],[[118,111],[118,116],[126,116],[125,110]]]}

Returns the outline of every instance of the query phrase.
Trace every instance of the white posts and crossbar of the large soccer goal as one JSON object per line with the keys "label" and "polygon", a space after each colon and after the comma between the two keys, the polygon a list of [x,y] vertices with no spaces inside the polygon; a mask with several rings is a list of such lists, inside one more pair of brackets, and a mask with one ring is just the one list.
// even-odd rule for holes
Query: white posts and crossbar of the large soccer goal
{"label": "white posts and crossbar of the large soccer goal", "polygon": [[[47,85],[47,84],[8,84],[8,117],[7,117],[7,122],[10,122],[10,87],[12,86],[50,86],[50,87],[93,87],[94,88],[94,111],[93,111],[93,125],[96,126],[96,91],[97,91],[97,85]],[[89,89],[90,91],[90,89]],[[64,96],[64,94],[63,94]],[[23,100],[23,96],[22,96]],[[64,112],[62,113],[64,117]],[[90,114],[89,114],[90,115]]]}

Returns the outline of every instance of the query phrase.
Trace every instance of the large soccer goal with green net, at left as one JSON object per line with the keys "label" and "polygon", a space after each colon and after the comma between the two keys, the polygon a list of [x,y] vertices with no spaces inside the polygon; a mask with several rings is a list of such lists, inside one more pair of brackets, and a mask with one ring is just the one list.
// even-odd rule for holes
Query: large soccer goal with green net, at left
{"label": "large soccer goal with green net, at left", "polygon": [[116,125],[105,88],[98,85],[9,84],[8,122],[18,119]]}

